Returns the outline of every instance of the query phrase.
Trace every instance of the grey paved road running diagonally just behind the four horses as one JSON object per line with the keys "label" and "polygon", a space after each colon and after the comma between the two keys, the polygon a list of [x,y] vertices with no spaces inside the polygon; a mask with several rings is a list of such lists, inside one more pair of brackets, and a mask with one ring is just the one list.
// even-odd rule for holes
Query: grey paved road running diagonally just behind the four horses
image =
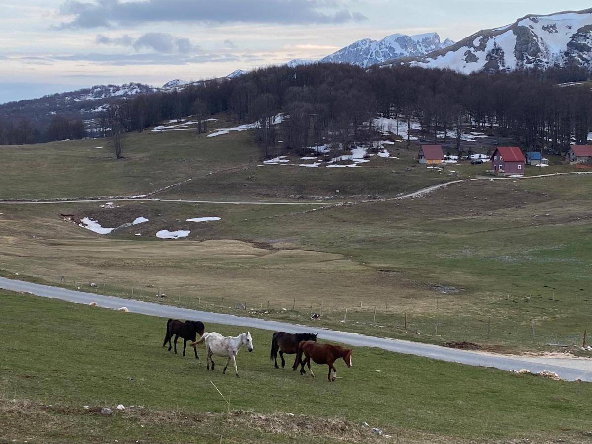
{"label": "grey paved road running diagonally just behind the four horses", "polygon": [[469,350],[456,350],[430,344],[422,344],[384,337],[364,336],[362,334],[339,332],[298,324],[258,318],[240,317],[232,314],[208,313],[207,311],[189,310],[188,308],[170,307],[169,305],[153,304],[143,301],[116,298],[96,293],[74,291],[49,285],[32,284],[0,277],[0,288],[14,291],[31,292],[38,296],[56,298],[78,304],[89,304],[95,301],[99,307],[127,307],[133,313],[148,314],[165,318],[189,318],[205,323],[231,324],[265,330],[287,330],[289,332],[313,332],[324,340],[346,343],[358,347],[377,347],[392,352],[407,353],[442,361],[459,362],[468,365],[495,367],[503,370],[519,370],[527,368],[533,372],[542,370],[553,371],[561,378],[575,381],[592,382],[592,359],[585,358],[538,358],[496,353],[482,353]]}

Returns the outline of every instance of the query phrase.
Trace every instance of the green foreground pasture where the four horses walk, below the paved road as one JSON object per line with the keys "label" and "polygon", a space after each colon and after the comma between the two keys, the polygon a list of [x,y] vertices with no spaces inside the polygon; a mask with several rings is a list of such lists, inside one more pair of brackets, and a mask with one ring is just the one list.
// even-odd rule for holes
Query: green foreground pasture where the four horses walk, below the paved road
{"label": "green foreground pasture where the four horses walk, below the paved road", "polygon": [[[354,350],[352,368],[338,363],[340,378],[329,384],[320,366],[316,379],[274,369],[270,332],[263,331],[251,332],[252,353],[239,353],[237,379],[166,352],[162,318],[10,292],[0,292],[0,304],[2,442],[219,442],[220,434],[223,442],[252,443],[385,439],[362,421],[397,442],[590,439],[590,384],[366,348]],[[230,414],[212,383],[230,398]],[[119,403],[126,411],[96,413]]]}

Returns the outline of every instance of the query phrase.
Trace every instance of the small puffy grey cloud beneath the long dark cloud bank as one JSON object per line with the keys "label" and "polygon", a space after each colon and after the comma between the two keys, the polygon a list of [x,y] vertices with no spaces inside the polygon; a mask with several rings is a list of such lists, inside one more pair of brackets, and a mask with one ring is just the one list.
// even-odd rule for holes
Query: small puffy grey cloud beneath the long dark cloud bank
{"label": "small puffy grey cloud beneath the long dark cloud bank", "polygon": [[188,38],[178,38],[169,33],[146,33],[137,38],[127,34],[116,38],[98,34],[95,41],[97,44],[133,47],[137,52],[142,49],[165,54],[189,54],[200,51],[200,47],[192,45]]}

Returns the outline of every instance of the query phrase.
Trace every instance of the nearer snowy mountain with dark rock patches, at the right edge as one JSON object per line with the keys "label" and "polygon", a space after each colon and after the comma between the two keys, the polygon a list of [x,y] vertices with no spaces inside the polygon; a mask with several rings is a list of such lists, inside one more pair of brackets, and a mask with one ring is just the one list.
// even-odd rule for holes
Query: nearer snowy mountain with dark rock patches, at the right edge
{"label": "nearer snowy mountain with dark rock patches, at the right edge", "polygon": [[395,63],[449,67],[465,73],[565,65],[592,68],[592,8],[527,15],[426,56]]}

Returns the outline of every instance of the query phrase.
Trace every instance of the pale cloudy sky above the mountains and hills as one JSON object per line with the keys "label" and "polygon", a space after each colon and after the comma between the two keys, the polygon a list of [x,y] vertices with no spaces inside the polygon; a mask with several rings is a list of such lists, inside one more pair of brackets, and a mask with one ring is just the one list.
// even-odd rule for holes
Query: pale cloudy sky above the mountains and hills
{"label": "pale cloudy sky above the mountains and hills", "polygon": [[587,0],[0,0],[0,103],[99,84],[220,77],[394,33],[460,40],[526,14],[589,7]]}

